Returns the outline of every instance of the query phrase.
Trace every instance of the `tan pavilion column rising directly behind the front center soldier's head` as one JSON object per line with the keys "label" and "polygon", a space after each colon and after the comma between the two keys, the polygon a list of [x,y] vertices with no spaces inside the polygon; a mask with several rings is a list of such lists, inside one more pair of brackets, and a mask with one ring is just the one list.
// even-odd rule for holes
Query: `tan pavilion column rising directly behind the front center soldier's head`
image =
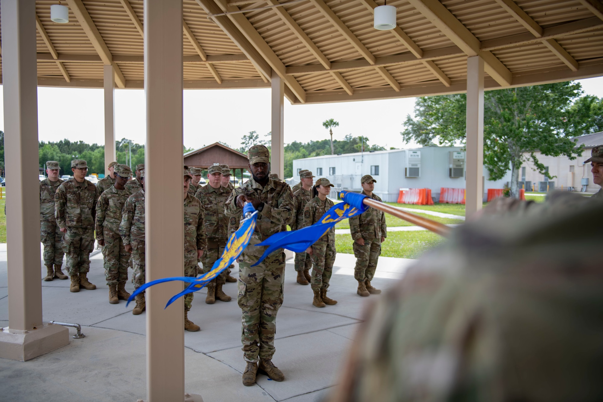
{"label": "tan pavilion column rising directly behind the front center soldier's head", "polygon": [[279,179],[285,180],[285,83],[282,78],[272,71],[271,112],[272,112],[272,138],[271,138],[271,171],[277,173]]}

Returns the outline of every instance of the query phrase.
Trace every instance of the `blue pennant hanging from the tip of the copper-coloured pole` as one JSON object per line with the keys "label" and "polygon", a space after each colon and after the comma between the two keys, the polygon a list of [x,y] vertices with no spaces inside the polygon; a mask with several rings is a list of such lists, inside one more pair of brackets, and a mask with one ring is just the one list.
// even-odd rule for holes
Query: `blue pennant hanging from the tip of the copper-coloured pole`
{"label": "blue pennant hanging from the tip of the copper-coloured pole", "polygon": [[264,261],[272,252],[283,248],[294,251],[296,253],[305,252],[308,247],[312,246],[319,238],[321,238],[330,228],[336,225],[337,222],[362,214],[368,206],[362,203],[366,197],[364,194],[352,193],[350,191],[341,191],[341,197],[344,202],[333,205],[329,211],[325,212],[320,221],[314,225],[306,226],[297,231],[279,232],[271,235],[257,246],[268,246],[262,257],[253,264]]}

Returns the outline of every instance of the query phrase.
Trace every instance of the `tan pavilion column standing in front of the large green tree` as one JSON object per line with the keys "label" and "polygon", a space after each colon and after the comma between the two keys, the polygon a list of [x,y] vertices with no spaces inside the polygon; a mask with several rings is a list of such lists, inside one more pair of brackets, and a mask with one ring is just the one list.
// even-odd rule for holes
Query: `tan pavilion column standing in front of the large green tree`
{"label": "tan pavilion column standing in front of the large green tree", "polygon": [[484,59],[467,57],[467,167],[465,210],[469,217],[484,199]]}

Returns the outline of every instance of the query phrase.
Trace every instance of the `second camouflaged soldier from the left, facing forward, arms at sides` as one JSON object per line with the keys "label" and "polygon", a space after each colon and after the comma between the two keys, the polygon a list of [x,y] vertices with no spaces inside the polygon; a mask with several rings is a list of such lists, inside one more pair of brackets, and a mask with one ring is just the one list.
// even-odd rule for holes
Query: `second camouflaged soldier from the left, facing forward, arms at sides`
{"label": "second camouflaged soldier from the left, facing forward, arms at sides", "polygon": [[54,195],[54,216],[63,232],[63,250],[67,257],[67,272],[71,278],[70,292],[80,292],[80,287],[96,289],[88,281],[90,252],[94,249],[94,220],[98,188],[86,180],[86,161],[71,161],[73,179],[58,186]]}

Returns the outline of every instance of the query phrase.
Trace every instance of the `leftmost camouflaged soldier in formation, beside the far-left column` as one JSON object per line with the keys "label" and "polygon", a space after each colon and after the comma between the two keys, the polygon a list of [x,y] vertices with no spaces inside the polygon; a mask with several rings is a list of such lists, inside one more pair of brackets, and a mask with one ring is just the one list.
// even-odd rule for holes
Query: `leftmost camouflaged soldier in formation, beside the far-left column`
{"label": "leftmost camouflaged soldier in formation, beside the far-left column", "polygon": [[[46,266],[45,281],[54,278],[67,279],[63,273],[63,233],[54,218],[54,194],[63,180],[58,178],[58,162],[46,162],[48,177],[40,182],[40,237],[44,244],[44,265]],[[52,265],[54,264],[54,270]]]}

